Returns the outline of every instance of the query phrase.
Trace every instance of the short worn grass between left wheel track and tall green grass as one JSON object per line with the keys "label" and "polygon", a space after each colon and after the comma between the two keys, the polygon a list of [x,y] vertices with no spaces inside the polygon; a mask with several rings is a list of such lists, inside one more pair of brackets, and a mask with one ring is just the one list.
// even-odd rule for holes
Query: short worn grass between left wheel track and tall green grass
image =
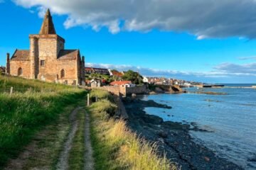
{"label": "short worn grass between left wheel track and tall green grass", "polygon": [[66,107],[57,123],[48,125],[38,132],[23,152],[16,159],[9,160],[4,169],[54,169],[65,138],[68,136],[69,115],[75,107],[73,105]]}

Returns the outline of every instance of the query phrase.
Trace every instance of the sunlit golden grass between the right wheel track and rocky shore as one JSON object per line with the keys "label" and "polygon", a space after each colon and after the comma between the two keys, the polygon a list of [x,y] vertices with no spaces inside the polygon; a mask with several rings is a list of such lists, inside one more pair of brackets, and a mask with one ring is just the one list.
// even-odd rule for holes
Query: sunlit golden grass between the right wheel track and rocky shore
{"label": "sunlit golden grass between the right wheel track and rocky shore", "polygon": [[176,169],[168,159],[156,154],[156,144],[139,138],[124,120],[111,118],[115,108],[107,99],[90,106],[95,169]]}

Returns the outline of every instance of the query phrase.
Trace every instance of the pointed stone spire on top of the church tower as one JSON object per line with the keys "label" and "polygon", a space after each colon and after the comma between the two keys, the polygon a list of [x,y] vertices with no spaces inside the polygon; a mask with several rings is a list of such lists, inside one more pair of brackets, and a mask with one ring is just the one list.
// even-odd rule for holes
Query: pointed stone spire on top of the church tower
{"label": "pointed stone spire on top of the church tower", "polygon": [[46,15],[43,19],[43,24],[41,26],[40,35],[48,35],[48,34],[56,34],[54,24],[53,24],[53,18],[50,15],[50,10],[48,9],[46,11]]}

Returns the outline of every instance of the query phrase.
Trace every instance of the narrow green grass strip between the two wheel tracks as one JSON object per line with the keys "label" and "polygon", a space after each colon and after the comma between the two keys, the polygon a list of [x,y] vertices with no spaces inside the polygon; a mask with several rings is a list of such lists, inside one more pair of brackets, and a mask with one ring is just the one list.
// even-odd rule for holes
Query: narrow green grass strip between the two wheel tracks
{"label": "narrow green grass strip between the two wheel tracks", "polygon": [[70,169],[83,169],[85,164],[85,110],[78,111],[78,130],[75,133],[72,148],[70,149],[70,159],[68,160]]}

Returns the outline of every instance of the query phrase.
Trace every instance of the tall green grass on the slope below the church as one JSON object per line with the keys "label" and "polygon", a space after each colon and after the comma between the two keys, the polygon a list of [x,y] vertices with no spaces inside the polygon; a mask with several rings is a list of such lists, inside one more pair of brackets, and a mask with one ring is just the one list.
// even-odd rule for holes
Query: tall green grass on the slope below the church
{"label": "tall green grass on the slope below the church", "polygon": [[0,93],[0,169],[38,130],[57,120],[65,106],[85,94],[70,86],[0,76],[0,89],[10,86],[13,94]]}

